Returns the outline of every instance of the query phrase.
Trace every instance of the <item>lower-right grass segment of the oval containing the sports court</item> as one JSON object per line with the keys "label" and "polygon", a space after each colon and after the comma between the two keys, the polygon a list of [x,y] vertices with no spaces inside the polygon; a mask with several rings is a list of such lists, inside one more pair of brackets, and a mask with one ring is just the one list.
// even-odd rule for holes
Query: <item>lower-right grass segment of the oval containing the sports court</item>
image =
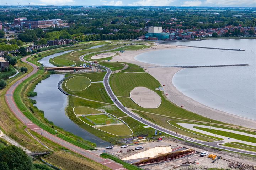
{"label": "lower-right grass segment of the oval containing the sports court", "polygon": [[132,135],[129,127],[125,124],[123,125],[111,125],[111,126],[102,126],[97,127],[97,129],[101,129],[103,131],[109,132],[111,134],[119,135],[119,136],[129,136]]}

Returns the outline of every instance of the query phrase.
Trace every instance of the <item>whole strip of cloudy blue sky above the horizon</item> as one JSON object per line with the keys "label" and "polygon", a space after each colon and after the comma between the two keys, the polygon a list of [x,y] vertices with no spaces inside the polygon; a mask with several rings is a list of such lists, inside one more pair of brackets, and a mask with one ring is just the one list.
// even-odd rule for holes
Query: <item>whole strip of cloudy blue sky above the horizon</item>
{"label": "whole strip of cloudy blue sky above the horizon", "polygon": [[0,0],[0,5],[222,6],[256,7],[256,0]]}

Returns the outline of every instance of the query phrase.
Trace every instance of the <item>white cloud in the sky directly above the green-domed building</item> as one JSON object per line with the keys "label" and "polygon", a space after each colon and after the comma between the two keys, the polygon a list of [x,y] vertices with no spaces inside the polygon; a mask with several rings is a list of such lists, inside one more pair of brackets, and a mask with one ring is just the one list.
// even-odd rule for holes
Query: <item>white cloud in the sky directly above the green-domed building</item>
{"label": "white cloud in the sky directly above the green-domed building", "polygon": [[168,6],[175,0],[140,0],[133,2],[132,4],[128,4],[131,6]]}

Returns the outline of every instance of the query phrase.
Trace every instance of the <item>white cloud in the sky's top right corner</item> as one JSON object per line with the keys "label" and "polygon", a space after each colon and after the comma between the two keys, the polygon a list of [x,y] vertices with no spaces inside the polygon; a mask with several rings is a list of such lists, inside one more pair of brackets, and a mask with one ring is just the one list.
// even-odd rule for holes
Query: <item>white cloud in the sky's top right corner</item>
{"label": "white cloud in the sky's top right corner", "polygon": [[250,5],[255,4],[255,0],[206,0],[206,4],[216,5]]}

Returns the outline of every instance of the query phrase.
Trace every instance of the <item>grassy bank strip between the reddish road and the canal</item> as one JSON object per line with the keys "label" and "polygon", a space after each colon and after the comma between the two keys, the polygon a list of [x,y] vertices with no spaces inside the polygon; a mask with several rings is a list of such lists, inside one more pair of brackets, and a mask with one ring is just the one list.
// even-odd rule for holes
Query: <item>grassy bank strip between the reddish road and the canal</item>
{"label": "grassy bank strip between the reddish road and the canal", "polygon": [[[65,137],[65,141],[70,142],[81,148],[93,149],[95,147],[94,143],[82,140],[82,138],[66,132],[61,128],[58,128],[57,126],[54,126],[53,123],[49,122],[46,118],[44,118],[43,112],[39,111],[35,106],[33,106],[32,100],[27,97],[27,93],[29,91],[32,91],[37,83],[49,77],[49,75],[50,74],[45,72],[44,70],[39,70],[36,74],[23,81],[23,83],[20,84],[14,92],[14,100],[17,104],[17,107],[34,124],[38,125],[40,128],[48,131],[49,133],[56,135],[60,138]],[[58,132],[56,133],[55,130],[57,130]]]}

